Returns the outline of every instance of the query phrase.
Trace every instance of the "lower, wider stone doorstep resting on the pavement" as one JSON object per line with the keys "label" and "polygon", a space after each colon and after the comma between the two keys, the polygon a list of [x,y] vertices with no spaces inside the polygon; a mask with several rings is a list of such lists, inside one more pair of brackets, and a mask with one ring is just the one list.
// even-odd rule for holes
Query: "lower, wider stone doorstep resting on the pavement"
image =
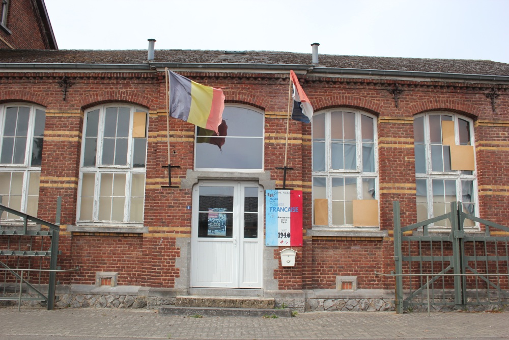
{"label": "lower, wider stone doorstep resting on the pavement", "polygon": [[290,309],[253,309],[253,308],[214,308],[214,307],[181,307],[163,305],[159,315],[179,315],[186,317],[247,317],[247,318],[291,318]]}

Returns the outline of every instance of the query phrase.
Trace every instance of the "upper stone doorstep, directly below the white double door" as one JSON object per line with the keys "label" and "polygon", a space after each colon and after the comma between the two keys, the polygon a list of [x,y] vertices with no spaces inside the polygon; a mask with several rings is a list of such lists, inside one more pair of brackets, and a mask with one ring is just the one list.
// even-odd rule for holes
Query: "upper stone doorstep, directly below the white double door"
{"label": "upper stone doorstep, directly below the white double door", "polygon": [[177,296],[177,307],[272,309],[273,298],[251,296]]}

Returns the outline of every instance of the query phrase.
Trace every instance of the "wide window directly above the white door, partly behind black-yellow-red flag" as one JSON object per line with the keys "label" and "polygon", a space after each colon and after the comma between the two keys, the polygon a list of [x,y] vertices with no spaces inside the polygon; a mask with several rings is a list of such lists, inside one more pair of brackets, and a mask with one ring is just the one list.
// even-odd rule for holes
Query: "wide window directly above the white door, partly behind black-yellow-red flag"
{"label": "wide window directly above the white door, partly behind black-yellow-red flag", "polygon": [[194,169],[263,170],[263,113],[246,106],[224,108],[219,136],[196,127]]}

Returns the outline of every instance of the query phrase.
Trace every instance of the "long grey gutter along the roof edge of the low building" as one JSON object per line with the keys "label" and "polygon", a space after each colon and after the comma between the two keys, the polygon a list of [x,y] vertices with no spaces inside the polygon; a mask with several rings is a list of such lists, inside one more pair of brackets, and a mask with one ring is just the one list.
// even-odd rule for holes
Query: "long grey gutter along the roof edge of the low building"
{"label": "long grey gutter along the roof edge of the low building", "polygon": [[487,82],[509,82],[507,75],[485,75],[485,74],[466,74],[466,73],[442,73],[442,72],[422,72],[422,71],[396,71],[396,70],[374,70],[359,68],[332,68],[317,67],[314,65],[298,64],[236,64],[236,63],[148,63],[148,64],[67,64],[67,63],[0,63],[2,69],[48,69],[48,70],[139,70],[139,71],[157,71],[164,68],[172,69],[196,69],[198,70],[295,70],[305,71],[314,74],[327,75],[349,75],[349,76],[390,76],[390,77],[412,77],[412,78],[433,78],[444,80],[464,80],[464,81],[487,81]]}

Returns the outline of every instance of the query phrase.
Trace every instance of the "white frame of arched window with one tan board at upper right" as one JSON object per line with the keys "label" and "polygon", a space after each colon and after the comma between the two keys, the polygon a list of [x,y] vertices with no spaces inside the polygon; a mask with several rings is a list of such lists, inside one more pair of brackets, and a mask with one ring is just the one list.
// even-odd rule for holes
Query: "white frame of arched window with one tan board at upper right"
{"label": "white frame of arched window with one tan board at upper right", "polygon": [[[128,144],[127,144],[127,164],[126,165],[102,165],[102,147],[104,140],[104,120],[105,120],[105,112],[107,108],[129,108],[129,133],[128,133]],[[84,161],[84,151],[86,144],[86,129],[87,129],[87,115],[90,112],[99,110],[99,122],[98,122],[98,132],[97,132],[97,149],[96,149],[96,165],[95,166],[83,166]],[[94,107],[88,109],[83,116],[83,132],[82,132],[82,143],[81,143],[81,158],[80,158],[80,169],[79,169],[79,179],[78,179],[78,199],[77,199],[77,208],[76,208],[76,225],[78,226],[97,226],[107,225],[107,226],[143,226],[142,221],[132,222],[130,221],[130,197],[131,197],[131,189],[132,189],[132,175],[133,174],[144,174],[144,188],[146,184],[146,169],[147,169],[147,149],[145,152],[145,167],[136,167],[134,168],[131,164],[132,156],[133,156],[133,117],[134,112],[145,112],[147,114],[146,120],[146,133],[148,132],[148,110],[142,107],[128,105],[124,103],[111,103],[104,104],[102,106]],[[148,137],[148,134],[146,135]],[[148,144],[148,143],[147,143]],[[146,145],[147,148],[147,145]],[[95,175],[94,180],[94,198],[93,198],[93,211],[92,211],[92,220],[80,220],[80,208],[81,208],[81,192],[82,192],[82,183],[83,183],[83,174],[84,173],[92,173]],[[99,220],[99,199],[100,199],[100,181],[102,174],[125,174],[125,197],[124,200],[124,220],[123,221],[111,221],[111,220]],[[143,206],[145,207],[145,194],[144,194],[144,202]],[[145,210],[145,208],[144,208]],[[144,214],[143,214],[144,215]]]}

